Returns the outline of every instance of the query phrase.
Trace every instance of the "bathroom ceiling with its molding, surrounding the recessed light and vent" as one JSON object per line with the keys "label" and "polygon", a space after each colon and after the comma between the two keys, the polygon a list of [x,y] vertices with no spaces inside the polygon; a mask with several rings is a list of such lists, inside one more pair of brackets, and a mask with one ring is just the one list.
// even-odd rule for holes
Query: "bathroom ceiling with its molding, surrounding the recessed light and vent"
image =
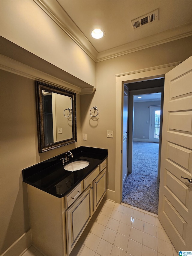
{"label": "bathroom ceiling with its molding, surrounding the recessed light and vent", "polygon": [[[38,5],[43,3],[56,22],[60,26],[62,23],[65,32],[95,61],[192,35],[191,0],[34,1]],[[158,9],[157,22],[133,29],[131,20],[155,9]],[[94,39],[91,31],[98,27],[105,31],[105,36]]]}

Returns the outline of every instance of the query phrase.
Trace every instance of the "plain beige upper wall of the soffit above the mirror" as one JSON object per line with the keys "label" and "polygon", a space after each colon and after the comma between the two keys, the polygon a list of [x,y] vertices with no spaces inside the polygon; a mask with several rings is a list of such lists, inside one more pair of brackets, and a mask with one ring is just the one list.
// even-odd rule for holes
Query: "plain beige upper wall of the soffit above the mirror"
{"label": "plain beige upper wall of the soffit above the mirror", "polygon": [[0,35],[96,86],[95,62],[33,0],[1,0]]}

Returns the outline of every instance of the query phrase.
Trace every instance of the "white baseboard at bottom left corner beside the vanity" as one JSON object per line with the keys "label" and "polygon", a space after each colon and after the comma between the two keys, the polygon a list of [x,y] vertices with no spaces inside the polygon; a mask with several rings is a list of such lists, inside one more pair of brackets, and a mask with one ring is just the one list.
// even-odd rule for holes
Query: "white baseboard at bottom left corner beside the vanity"
{"label": "white baseboard at bottom left corner beside the vanity", "polygon": [[17,239],[1,256],[19,256],[32,243],[31,229]]}

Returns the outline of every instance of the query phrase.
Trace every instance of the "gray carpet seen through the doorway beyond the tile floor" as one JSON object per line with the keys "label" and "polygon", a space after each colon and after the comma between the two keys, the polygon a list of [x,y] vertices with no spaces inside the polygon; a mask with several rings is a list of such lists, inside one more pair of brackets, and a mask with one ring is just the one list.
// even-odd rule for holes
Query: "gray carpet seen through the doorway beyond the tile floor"
{"label": "gray carpet seen through the doorway beyond the tile floor", "polygon": [[123,203],[158,214],[158,143],[133,143],[133,168],[123,185]]}

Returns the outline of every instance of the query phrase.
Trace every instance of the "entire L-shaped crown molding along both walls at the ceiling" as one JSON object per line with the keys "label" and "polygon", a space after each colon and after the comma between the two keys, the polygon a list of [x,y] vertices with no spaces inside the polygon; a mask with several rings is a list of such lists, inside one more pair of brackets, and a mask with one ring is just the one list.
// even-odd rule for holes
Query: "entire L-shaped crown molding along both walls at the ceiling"
{"label": "entire L-shaped crown molding along both walls at the ceiling", "polygon": [[192,35],[192,22],[98,53],[57,1],[33,0],[91,59],[101,62]]}

